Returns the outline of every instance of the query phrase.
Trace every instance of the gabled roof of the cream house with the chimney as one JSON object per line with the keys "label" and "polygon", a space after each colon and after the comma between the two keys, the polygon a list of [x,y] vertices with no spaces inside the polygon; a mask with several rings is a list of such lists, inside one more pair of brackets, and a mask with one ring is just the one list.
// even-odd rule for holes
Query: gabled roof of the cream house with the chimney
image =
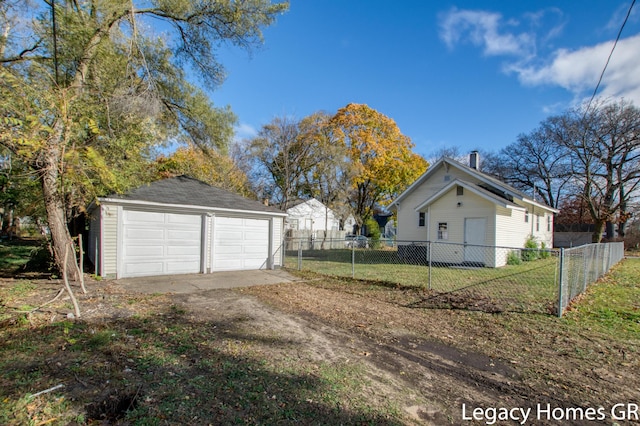
{"label": "gabled roof of the cream house with the chimney", "polygon": [[[433,166],[429,167],[427,169],[426,172],[424,172],[422,174],[422,176],[420,176],[418,179],[416,179],[415,182],[413,182],[409,188],[407,188],[402,194],[400,194],[398,196],[398,198],[396,198],[392,203],[391,206],[395,206],[397,207],[400,204],[400,201],[402,201],[402,199],[404,199],[406,196],[408,196],[411,192],[413,192],[417,187],[419,187],[422,183],[424,183],[426,180],[428,180],[433,174],[436,173],[437,170],[439,170],[442,167],[454,167],[458,170],[461,170],[465,173],[467,173],[468,175],[475,177],[476,179],[478,179],[480,182],[482,182],[482,184],[473,184],[471,182],[466,182],[468,185],[472,185],[474,186],[479,192],[486,192],[486,193],[491,193],[493,194],[493,196],[497,196],[497,197],[501,197],[504,198],[504,200],[509,201],[509,202],[513,202],[513,199],[519,199],[522,200],[524,202],[527,202],[529,204],[533,204],[535,206],[541,207],[543,209],[552,211],[554,213],[557,213],[558,210],[544,204],[544,203],[540,203],[535,201],[534,199],[532,199],[531,197],[529,197],[527,194],[525,194],[524,192],[514,188],[513,186],[499,180],[496,179],[493,176],[490,176],[486,173],[482,173],[479,170],[476,170],[472,167],[466,166],[462,163],[459,163],[456,160],[453,160],[451,158],[441,158],[440,160],[438,160]],[[497,190],[497,191],[493,191],[493,190]],[[498,193],[502,193],[500,195],[498,195],[496,192]]]}

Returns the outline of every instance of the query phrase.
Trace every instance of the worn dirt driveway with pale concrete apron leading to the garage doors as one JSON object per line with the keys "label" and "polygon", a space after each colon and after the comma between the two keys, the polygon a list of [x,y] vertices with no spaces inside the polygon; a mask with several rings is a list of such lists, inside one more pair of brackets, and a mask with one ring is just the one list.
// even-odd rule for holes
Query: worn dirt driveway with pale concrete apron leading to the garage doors
{"label": "worn dirt driveway with pale concrete apron leading to the garage doors", "polygon": [[[273,285],[237,288],[264,281]],[[353,295],[332,294],[305,285],[304,280],[284,271],[154,277],[115,283],[127,291],[169,291],[167,297],[184,306],[194,319],[226,323],[230,328],[250,332],[256,340],[286,342],[265,347],[271,356],[361,364],[374,393],[400,401],[408,417],[419,424],[459,423],[463,403],[487,407],[532,405],[531,390],[511,365],[420,337],[398,321],[407,312],[390,305],[382,306],[384,316],[392,315],[395,322],[390,321],[388,330],[377,334],[378,338],[367,335],[363,331],[383,314],[375,312],[380,307],[367,306]],[[231,286],[236,288],[221,288]],[[305,306],[291,309],[289,305],[287,309],[287,301],[296,298],[305,300]],[[324,320],[323,316],[332,314],[360,319],[353,329],[345,329]]]}

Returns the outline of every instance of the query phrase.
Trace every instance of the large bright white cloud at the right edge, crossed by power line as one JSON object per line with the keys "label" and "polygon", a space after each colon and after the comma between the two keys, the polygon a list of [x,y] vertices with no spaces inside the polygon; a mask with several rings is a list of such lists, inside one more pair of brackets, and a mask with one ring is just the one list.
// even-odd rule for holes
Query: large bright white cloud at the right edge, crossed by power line
{"label": "large bright white cloud at the right edge, crossed by power line", "polygon": [[[613,40],[576,50],[558,49],[543,66],[513,64],[507,68],[527,85],[554,85],[576,97],[590,96],[613,47]],[[618,41],[598,96],[624,97],[640,104],[640,34]]]}

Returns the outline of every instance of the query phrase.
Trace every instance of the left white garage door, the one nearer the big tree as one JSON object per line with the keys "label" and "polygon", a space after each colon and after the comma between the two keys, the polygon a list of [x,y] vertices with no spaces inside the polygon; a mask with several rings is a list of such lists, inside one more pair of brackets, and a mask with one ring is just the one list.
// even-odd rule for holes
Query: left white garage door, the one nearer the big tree
{"label": "left white garage door, the one nearer the big tree", "polygon": [[123,211],[119,276],[200,272],[202,216]]}

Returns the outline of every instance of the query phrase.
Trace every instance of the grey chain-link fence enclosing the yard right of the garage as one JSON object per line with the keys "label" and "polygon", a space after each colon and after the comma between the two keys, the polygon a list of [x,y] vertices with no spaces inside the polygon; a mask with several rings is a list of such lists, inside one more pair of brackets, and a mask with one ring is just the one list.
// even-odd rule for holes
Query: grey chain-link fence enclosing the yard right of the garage
{"label": "grey chain-link fence enclosing the yard right of the garage", "polygon": [[[583,291],[601,276],[594,271],[608,271],[624,255],[623,247],[590,246],[602,247],[580,255],[431,241],[289,239],[284,266],[413,290],[413,307],[561,314],[579,294],[575,283]],[[603,264],[605,252],[614,255]],[[571,260],[563,262],[562,256]],[[578,259],[589,266],[577,266]]]}

